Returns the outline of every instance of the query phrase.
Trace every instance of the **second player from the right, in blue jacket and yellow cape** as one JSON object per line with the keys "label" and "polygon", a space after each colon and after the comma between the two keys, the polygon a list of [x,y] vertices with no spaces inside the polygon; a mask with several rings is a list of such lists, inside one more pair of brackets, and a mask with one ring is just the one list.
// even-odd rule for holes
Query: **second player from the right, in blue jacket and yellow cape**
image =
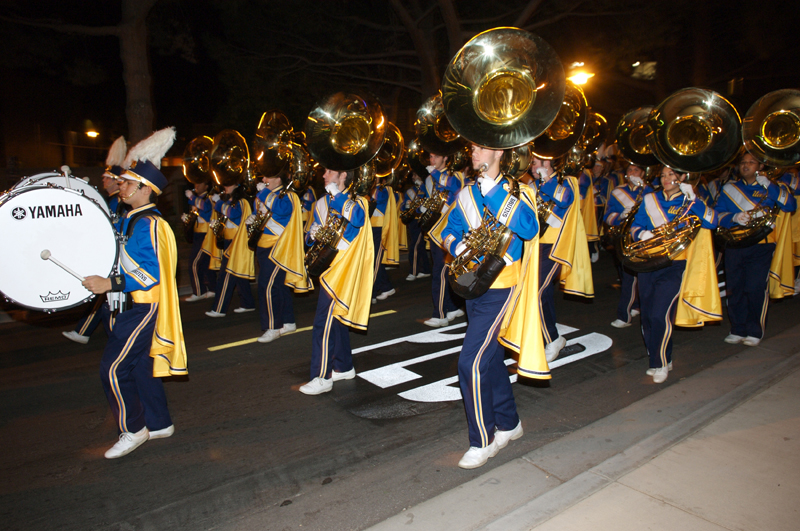
{"label": "second player from the right, in blue jacket and yellow cape", "polygon": [[[684,182],[687,175],[666,166],[662,169],[662,190],[646,194],[633,218],[631,235],[635,241],[649,240],[657,227],[687,212],[700,219],[703,229],[717,227],[716,213],[697,199],[692,186]],[[695,274],[696,268],[701,267],[702,274]],[[699,288],[690,285],[703,280],[707,283]],[[689,301],[698,294],[700,300]],[[673,323],[702,326],[705,321],[722,318],[710,232],[701,230],[689,249],[667,267],[639,273],[639,297],[642,335],[650,358],[647,374],[653,376],[653,382],[662,383],[672,369]],[[692,312],[692,317],[684,317],[685,311]]]}

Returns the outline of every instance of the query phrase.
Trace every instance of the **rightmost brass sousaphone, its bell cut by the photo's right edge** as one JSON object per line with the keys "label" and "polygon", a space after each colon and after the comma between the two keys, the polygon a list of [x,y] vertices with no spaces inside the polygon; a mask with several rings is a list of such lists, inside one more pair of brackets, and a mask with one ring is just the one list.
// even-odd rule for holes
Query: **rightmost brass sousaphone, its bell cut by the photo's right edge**
{"label": "rightmost brass sousaphone, its bell cut by the photo's right edge", "polygon": [[[744,147],[762,164],[786,168],[800,165],[800,91],[770,92],[755,102],[742,120]],[[780,214],[776,205],[762,202],[750,212],[746,225],[717,228],[717,244],[739,249],[755,245],[775,228]]]}

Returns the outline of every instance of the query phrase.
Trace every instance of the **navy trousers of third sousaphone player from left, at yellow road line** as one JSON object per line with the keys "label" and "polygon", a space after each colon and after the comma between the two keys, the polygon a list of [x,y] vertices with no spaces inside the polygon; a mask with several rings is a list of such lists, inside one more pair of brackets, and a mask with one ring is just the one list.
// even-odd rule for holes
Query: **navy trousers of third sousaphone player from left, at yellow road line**
{"label": "navy trousers of third sousaphone player from left, at yellow road line", "polygon": [[259,247],[258,258],[258,309],[261,330],[279,330],[286,323],[294,323],[292,290],[284,284],[286,271],[269,259],[272,249]]}

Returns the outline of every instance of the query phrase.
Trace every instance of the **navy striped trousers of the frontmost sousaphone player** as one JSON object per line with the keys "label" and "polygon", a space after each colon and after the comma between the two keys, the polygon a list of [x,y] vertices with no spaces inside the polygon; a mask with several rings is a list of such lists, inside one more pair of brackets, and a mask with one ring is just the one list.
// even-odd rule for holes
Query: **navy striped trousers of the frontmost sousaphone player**
{"label": "navy striped trousers of the frontmost sousaphone player", "polygon": [[458,356],[458,383],[469,428],[469,445],[484,448],[494,431],[513,430],[519,423],[508,379],[505,348],[497,342],[512,288],[490,289],[467,301],[469,325]]}

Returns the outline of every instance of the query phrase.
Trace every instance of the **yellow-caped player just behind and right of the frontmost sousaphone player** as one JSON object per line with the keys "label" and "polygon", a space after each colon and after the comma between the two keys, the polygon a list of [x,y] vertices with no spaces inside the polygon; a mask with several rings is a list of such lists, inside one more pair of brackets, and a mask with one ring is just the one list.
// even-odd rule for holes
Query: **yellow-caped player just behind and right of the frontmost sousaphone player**
{"label": "yellow-caped player just behind and right of the frontmost sousaphone player", "polygon": [[581,209],[578,180],[560,179],[550,160],[533,157],[531,170],[539,180],[538,193],[553,209],[545,220],[548,227],[539,238],[539,313],[547,361],[555,361],[567,344],[556,328],[555,282],[565,293],[594,297],[591,260]]}

